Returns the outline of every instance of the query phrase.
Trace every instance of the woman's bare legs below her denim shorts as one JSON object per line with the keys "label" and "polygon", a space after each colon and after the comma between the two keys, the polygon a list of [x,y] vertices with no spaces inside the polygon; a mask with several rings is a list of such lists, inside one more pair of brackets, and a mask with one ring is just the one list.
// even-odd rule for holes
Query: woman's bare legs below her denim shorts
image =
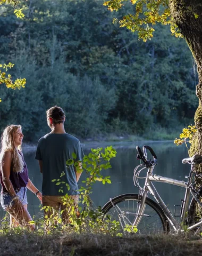
{"label": "woman's bare legs below her denim shorts", "polygon": [[11,214],[11,218],[15,220],[15,222],[18,222],[19,225],[21,226],[27,226],[31,230],[35,229],[35,225],[29,225],[29,221],[31,221],[31,216],[27,210],[27,204],[23,205],[24,206],[24,211],[21,212],[19,209],[19,205],[12,205],[6,209],[7,212]]}

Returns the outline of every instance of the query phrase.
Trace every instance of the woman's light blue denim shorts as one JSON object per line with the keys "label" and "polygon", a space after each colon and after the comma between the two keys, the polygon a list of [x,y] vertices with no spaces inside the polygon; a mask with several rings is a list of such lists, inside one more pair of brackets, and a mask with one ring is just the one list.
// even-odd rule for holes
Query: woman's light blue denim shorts
{"label": "woman's light blue denim shorts", "polygon": [[[18,193],[16,193],[17,196],[19,196],[20,201],[23,205],[27,204],[27,187],[22,187]],[[7,207],[14,205],[14,202],[11,200],[11,196],[9,193],[3,193],[1,194],[1,204],[6,211]]]}

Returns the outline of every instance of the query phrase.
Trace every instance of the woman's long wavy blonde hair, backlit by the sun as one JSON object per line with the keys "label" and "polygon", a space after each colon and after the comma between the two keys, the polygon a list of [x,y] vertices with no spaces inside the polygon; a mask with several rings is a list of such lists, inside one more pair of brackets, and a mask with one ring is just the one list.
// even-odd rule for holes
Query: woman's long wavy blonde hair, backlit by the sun
{"label": "woman's long wavy blonde hair, backlit by the sun", "polygon": [[24,170],[24,163],[22,160],[22,157],[20,156],[18,149],[21,150],[21,145],[18,146],[18,148],[15,147],[14,143],[14,133],[18,129],[22,129],[21,125],[8,125],[2,134],[1,138],[1,153],[0,153],[0,159],[2,160],[2,157],[4,155],[4,152],[6,150],[10,150],[11,152],[11,163],[13,167],[13,172],[19,173],[23,172]]}

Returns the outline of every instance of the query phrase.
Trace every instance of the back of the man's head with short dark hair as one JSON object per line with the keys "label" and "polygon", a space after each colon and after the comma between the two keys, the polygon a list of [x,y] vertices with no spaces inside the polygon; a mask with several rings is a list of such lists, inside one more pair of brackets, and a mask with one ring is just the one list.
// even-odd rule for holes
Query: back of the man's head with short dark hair
{"label": "back of the man's head with short dark hair", "polygon": [[57,124],[61,124],[61,123],[63,124],[65,121],[65,115],[64,115],[63,109],[57,106],[49,108],[46,111],[46,117],[47,117],[48,126],[50,128],[52,128]]}

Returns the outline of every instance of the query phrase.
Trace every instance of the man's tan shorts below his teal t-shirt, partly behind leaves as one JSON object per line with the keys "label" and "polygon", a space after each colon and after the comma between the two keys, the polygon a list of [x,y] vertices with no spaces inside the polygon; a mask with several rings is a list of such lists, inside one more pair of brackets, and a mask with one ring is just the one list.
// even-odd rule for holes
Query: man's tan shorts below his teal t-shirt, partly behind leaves
{"label": "man's tan shorts below his teal t-shirt, partly behind leaves", "polygon": [[[79,195],[72,195],[70,196],[72,199],[74,199],[74,204],[78,205],[79,203]],[[42,197],[42,204],[43,206],[51,206],[55,210],[61,210],[66,209],[66,205],[63,205],[64,201],[62,200],[61,196],[43,196]]]}

